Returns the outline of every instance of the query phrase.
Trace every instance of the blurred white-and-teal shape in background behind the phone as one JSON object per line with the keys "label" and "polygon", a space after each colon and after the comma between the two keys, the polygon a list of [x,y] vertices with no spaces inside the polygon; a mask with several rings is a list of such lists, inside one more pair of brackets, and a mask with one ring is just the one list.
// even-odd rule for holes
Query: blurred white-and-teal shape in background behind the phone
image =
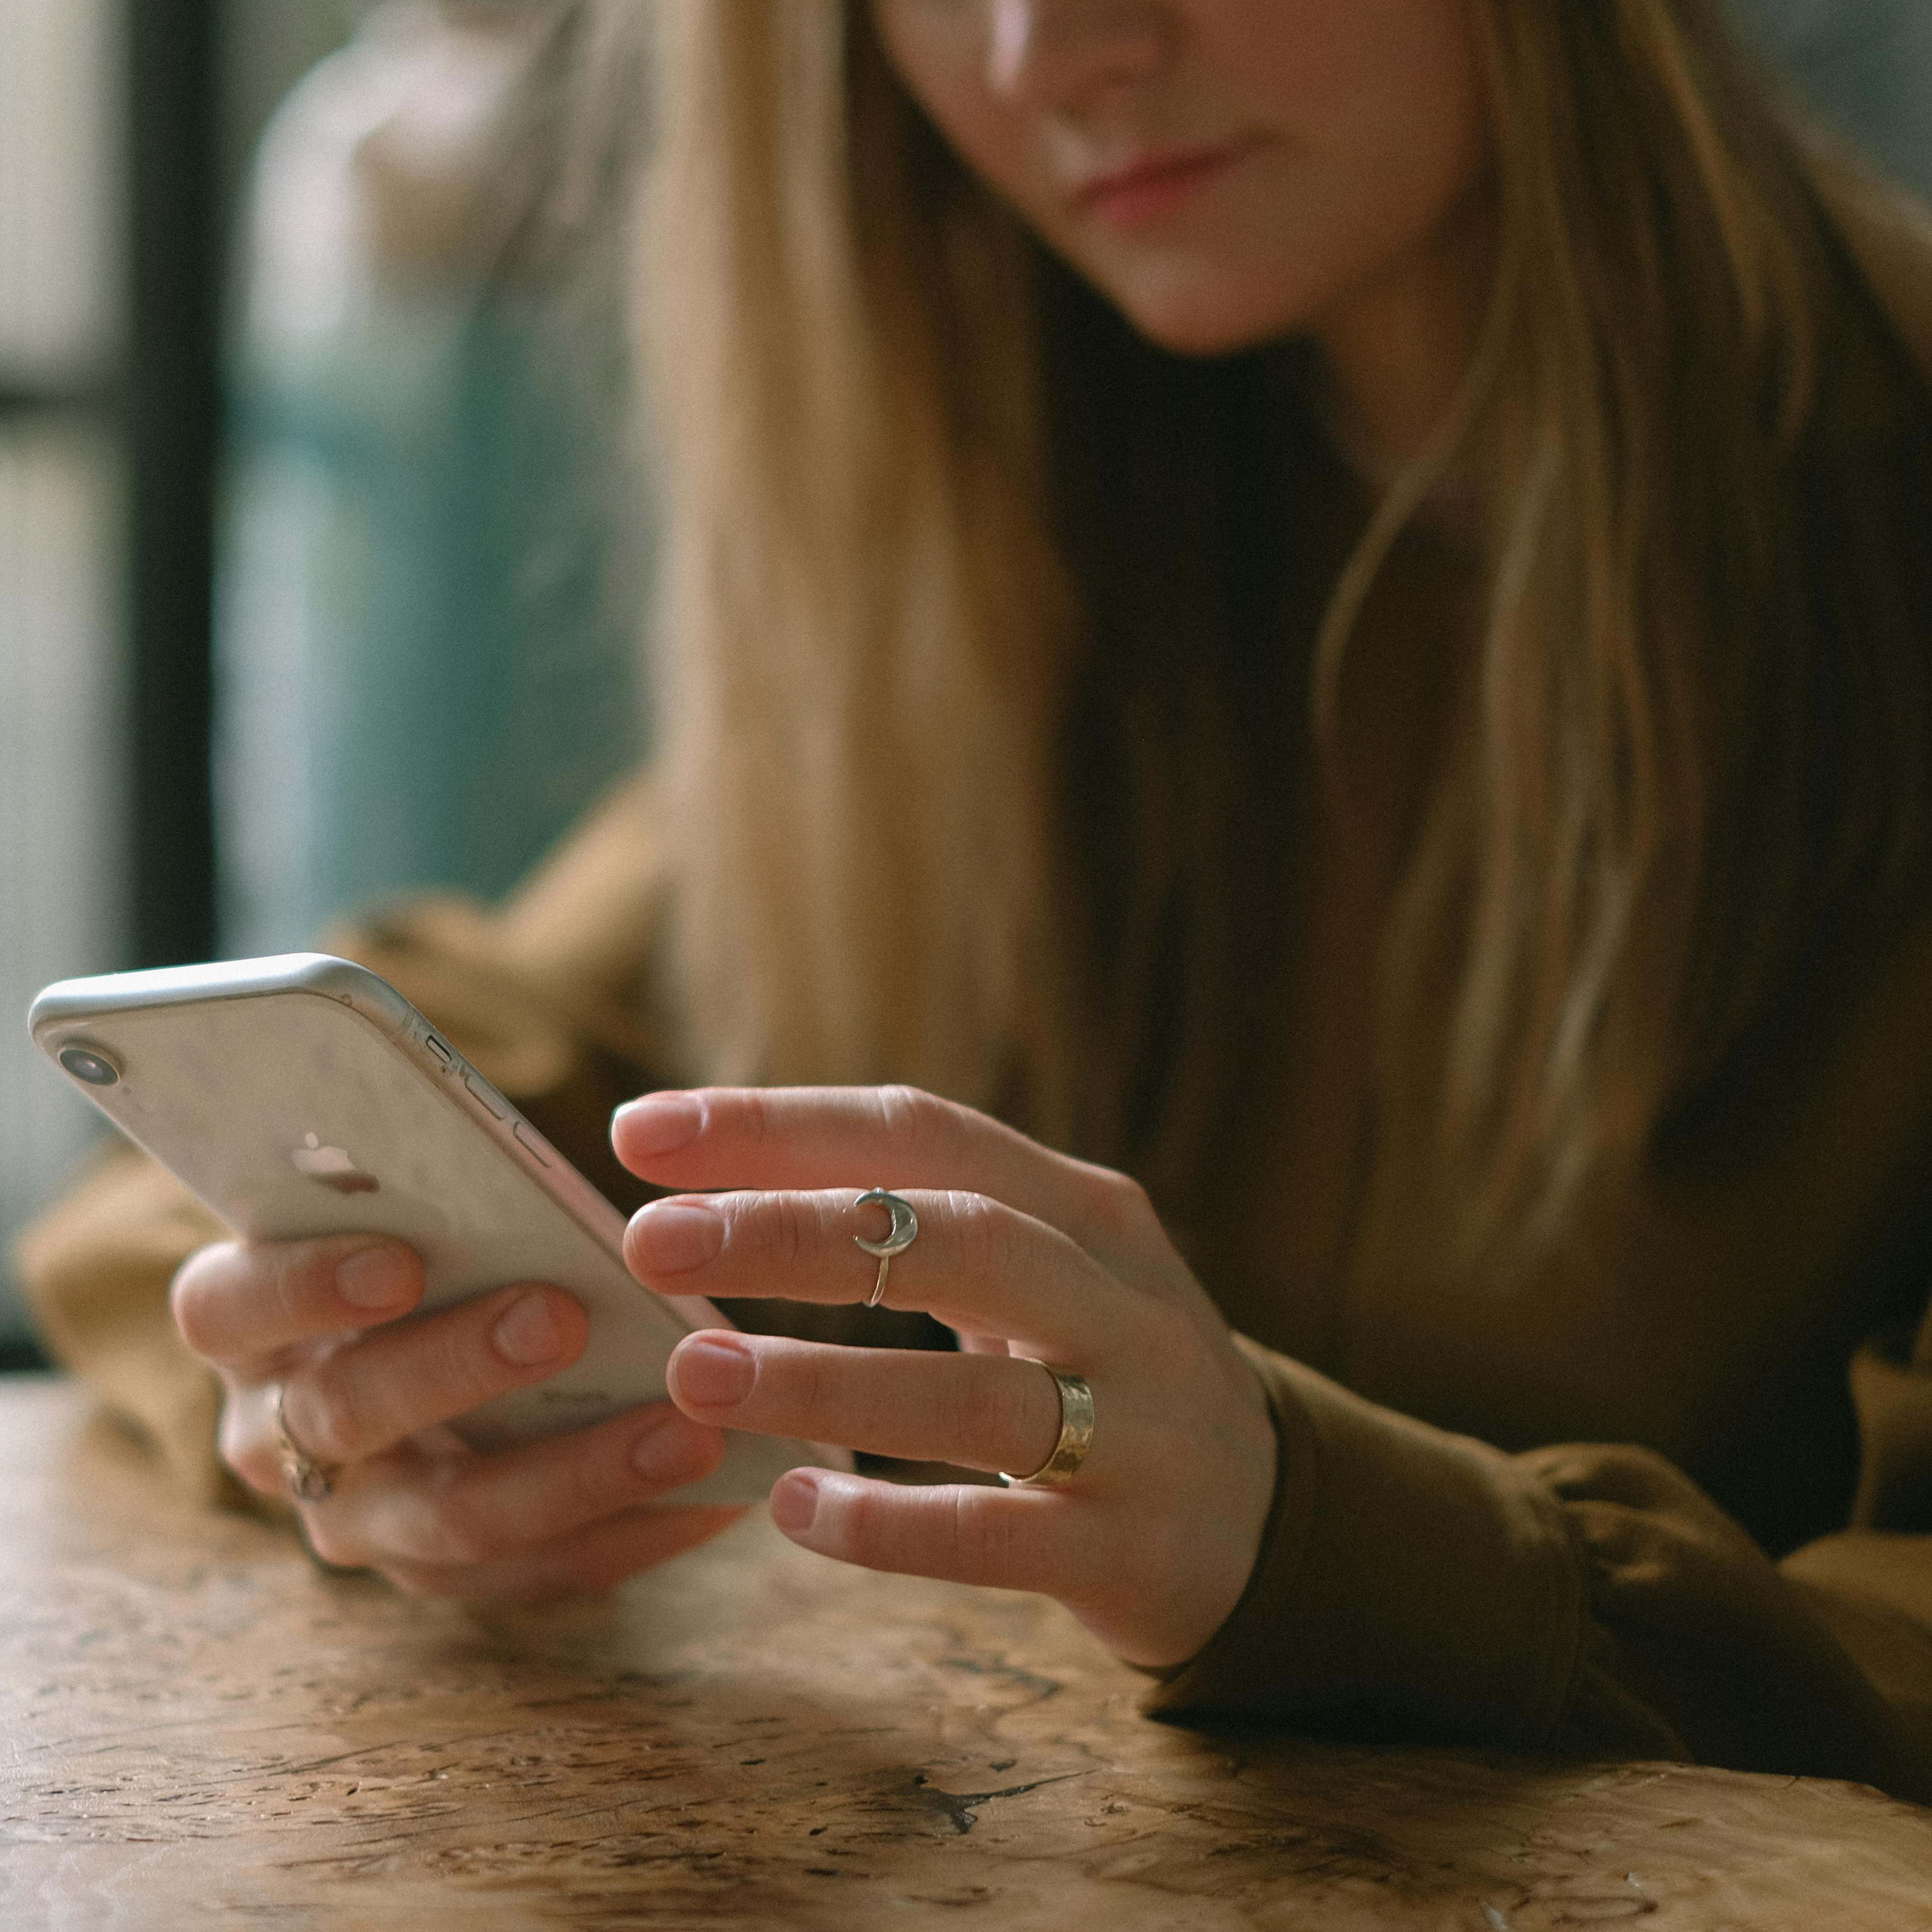
{"label": "blurred white-and-teal shape in background behind the phone", "polygon": [[500,895],[639,755],[645,17],[381,8],[263,137],[216,603],[230,952]]}

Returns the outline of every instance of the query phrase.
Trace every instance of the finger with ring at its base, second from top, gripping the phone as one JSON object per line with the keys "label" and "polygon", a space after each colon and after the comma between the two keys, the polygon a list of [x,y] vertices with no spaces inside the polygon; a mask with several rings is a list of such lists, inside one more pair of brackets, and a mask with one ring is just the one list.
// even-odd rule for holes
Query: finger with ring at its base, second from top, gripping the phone
{"label": "finger with ring at its base, second from top, gripping the phone", "polygon": [[589,1316],[562,1289],[498,1289],[301,1368],[282,1385],[282,1416],[319,1463],[359,1463],[554,1376],[587,1339]]}

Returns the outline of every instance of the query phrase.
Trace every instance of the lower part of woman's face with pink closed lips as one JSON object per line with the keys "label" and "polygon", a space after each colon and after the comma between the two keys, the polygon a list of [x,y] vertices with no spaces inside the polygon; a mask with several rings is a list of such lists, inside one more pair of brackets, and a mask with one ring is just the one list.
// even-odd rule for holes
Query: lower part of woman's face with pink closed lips
{"label": "lower part of woman's face with pink closed lips", "polygon": [[1151,340],[1302,330],[1482,180],[1474,0],[871,0],[958,155]]}

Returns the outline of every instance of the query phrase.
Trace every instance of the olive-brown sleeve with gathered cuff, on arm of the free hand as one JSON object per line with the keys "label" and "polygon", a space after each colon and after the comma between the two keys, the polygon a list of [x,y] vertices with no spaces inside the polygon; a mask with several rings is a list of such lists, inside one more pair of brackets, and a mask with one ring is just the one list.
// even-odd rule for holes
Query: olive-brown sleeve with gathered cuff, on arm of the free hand
{"label": "olive-brown sleeve with gathered cuff, on arm of the free hand", "polygon": [[1774,1565],[1648,1449],[1503,1455],[1244,1343],[1279,1435],[1248,1590],[1163,1718],[1677,1758],[1932,1801],[1932,1321],[1866,1350],[1861,1519]]}

